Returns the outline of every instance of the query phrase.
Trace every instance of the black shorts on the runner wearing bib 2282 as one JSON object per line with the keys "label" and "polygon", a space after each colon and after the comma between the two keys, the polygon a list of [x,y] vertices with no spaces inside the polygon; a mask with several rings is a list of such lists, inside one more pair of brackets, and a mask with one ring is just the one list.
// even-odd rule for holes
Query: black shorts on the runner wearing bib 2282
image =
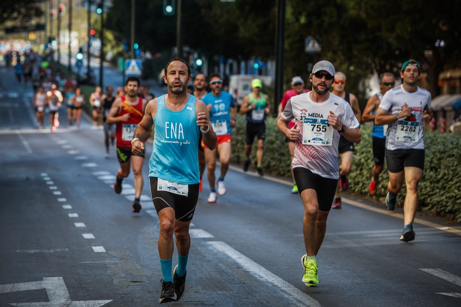
{"label": "black shorts on the runner wearing bib 2282", "polygon": [[386,149],[387,169],[391,173],[401,172],[407,166],[424,170],[424,156],[424,149]]}

